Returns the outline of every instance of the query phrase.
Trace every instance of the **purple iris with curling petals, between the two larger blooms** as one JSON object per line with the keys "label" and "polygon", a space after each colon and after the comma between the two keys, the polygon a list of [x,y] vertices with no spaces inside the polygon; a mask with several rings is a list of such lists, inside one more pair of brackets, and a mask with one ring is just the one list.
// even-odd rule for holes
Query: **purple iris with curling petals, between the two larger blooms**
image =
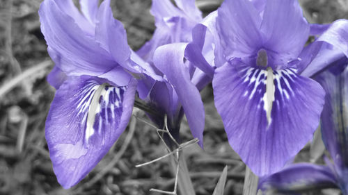
{"label": "purple iris with curling petals, between the two larger blooms", "polygon": [[[199,90],[212,80],[214,69],[206,59],[213,61],[214,56],[207,54],[203,57],[201,51],[208,51],[205,49],[208,47],[200,39],[193,38],[198,36],[192,35],[193,28],[203,20],[195,1],[175,0],[175,3],[177,6],[169,0],[152,1],[151,12],[157,28],[152,40],[137,53],[154,65],[159,70],[158,76],[164,79],[154,82],[143,80],[150,83],[147,85],[151,89],[144,99],[160,113],[150,115],[152,121],[161,128],[163,117],[167,115],[168,128],[176,137],[185,114],[193,137],[198,138],[198,143],[203,146],[205,112]],[[196,69],[196,63],[205,65],[209,75]]]}

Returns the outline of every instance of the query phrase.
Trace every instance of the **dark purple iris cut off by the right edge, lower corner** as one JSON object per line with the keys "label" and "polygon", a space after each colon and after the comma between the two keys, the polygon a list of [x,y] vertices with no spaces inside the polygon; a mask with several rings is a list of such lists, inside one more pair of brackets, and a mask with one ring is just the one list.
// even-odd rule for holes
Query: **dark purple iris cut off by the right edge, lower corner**
{"label": "dark purple iris cut off by the right edge, lower corner", "polygon": [[326,92],[321,115],[322,139],[329,151],[326,164],[293,164],[279,173],[260,180],[263,191],[294,192],[307,187],[339,187],[348,194],[348,59],[343,57],[315,75]]}

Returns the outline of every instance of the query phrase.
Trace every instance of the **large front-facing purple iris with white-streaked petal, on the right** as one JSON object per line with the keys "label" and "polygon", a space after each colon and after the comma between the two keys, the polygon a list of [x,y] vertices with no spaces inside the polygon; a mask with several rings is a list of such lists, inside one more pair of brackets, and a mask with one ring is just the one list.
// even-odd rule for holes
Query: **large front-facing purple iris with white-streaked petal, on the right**
{"label": "large front-facing purple iris with white-streaked petal, on the right", "polygon": [[[208,26],[219,40],[215,105],[230,145],[256,175],[280,171],[313,137],[325,92],[307,76],[347,52],[345,25],[308,24],[296,0],[226,0],[216,29]],[[317,40],[305,47],[309,35]],[[321,55],[325,62],[315,63]]]}

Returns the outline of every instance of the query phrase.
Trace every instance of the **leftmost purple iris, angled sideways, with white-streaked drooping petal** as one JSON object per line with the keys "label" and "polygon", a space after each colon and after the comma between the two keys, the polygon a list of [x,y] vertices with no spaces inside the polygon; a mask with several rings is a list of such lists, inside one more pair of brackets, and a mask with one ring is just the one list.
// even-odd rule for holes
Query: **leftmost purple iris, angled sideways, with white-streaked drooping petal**
{"label": "leftmost purple iris, angled sideways, with white-streaked drooping petal", "polygon": [[[56,66],[56,87],[46,139],[58,182],[72,187],[84,178],[125,130],[132,115],[136,78],[155,71],[129,48],[110,0],[45,0],[42,33]],[[144,91],[138,86],[139,91]]]}

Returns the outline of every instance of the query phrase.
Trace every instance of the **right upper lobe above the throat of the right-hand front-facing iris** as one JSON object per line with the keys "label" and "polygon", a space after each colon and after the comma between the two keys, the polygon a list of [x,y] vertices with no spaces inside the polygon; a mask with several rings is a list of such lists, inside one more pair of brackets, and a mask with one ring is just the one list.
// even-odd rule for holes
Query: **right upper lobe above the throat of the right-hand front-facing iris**
{"label": "right upper lobe above the throat of the right-hand front-facing iris", "polygon": [[308,40],[309,30],[297,0],[267,0],[261,31],[262,46],[272,51],[269,63],[286,65],[296,59]]}

